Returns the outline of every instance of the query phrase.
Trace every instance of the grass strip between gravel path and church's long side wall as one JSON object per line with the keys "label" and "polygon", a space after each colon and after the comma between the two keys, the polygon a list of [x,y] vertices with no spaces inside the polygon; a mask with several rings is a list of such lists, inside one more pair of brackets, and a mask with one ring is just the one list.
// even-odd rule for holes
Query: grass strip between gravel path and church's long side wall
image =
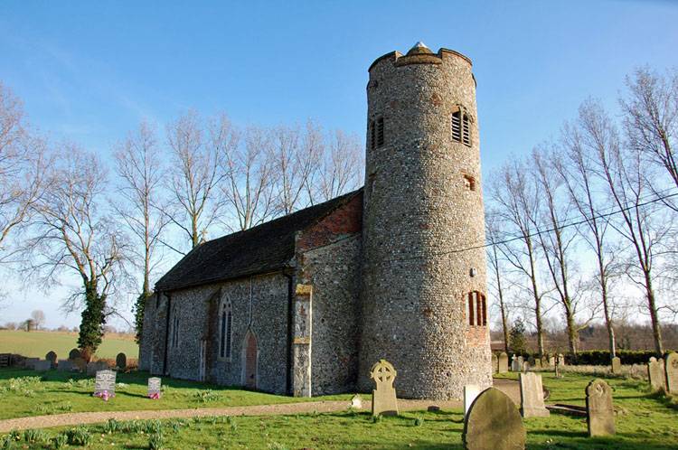
{"label": "grass strip between gravel path and church's long side wall", "polygon": [[93,377],[56,370],[0,369],[0,419],[68,412],[219,408],[323,399],[346,399],[348,403],[351,398],[349,394],[291,398],[164,378],[162,398],[151,400],[146,398],[148,377],[147,372],[118,373],[116,398],[104,402],[92,397]]}

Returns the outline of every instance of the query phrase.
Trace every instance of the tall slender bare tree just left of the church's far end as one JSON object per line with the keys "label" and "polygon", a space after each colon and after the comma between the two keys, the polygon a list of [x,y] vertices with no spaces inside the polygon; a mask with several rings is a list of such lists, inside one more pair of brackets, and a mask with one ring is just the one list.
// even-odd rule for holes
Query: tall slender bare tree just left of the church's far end
{"label": "tall slender bare tree just left of the church's far end", "polygon": [[114,208],[137,241],[137,245],[130,246],[130,253],[142,274],[135,305],[138,341],[144,323],[144,305],[152,295],[151,273],[159,263],[156,249],[168,223],[162,185],[165,171],[155,130],[142,123],[117,145],[115,157],[119,197]]}

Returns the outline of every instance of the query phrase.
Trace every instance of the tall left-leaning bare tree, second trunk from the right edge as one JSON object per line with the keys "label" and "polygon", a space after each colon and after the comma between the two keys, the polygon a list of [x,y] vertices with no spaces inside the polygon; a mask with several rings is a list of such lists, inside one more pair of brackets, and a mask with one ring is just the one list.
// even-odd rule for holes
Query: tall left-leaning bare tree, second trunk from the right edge
{"label": "tall left-leaning bare tree, second trunk from the right edge", "polygon": [[601,216],[603,206],[609,201],[605,191],[601,190],[594,161],[598,153],[596,141],[584,139],[578,126],[567,125],[562,133],[562,155],[554,159],[555,168],[570,196],[576,211],[585,218],[579,229],[580,235],[596,257],[596,281],[603,306],[607,328],[610,357],[617,352],[615,328],[612,318],[612,298],[609,281],[612,277],[614,251],[609,242],[609,221]]}

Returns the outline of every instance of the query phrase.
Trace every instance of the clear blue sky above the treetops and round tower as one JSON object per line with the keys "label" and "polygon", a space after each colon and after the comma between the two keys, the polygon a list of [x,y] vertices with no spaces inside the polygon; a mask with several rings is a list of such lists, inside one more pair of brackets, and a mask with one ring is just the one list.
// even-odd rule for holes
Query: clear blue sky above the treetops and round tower
{"label": "clear blue sky above the treetops and round tower", "polygon": [[[486,174],[556,135],[584,98],[615,108],[636,66],[678,66],[675,23],[671,1],[5,0],[0,80],[35,126],[101,155],[140,120],[162,127],[187,108],[362,136],[370,63],[420,40],[474,61]],[[42,303],[28,297],[5,320]]]}

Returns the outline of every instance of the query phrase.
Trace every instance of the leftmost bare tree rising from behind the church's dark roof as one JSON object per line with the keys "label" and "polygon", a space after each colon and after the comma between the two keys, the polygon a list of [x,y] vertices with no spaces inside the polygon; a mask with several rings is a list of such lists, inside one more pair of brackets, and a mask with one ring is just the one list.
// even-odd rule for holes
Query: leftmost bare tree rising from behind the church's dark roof
{"label": "leftmost bare tree rising from behind the church's dark roof", "polygon": [[[185,233],[191,248],[205,238],[223,204],[217,195],[220,151],[213,142],[205,142],[204,134],[200,118],[193,111],[167,126],[172,154],[168,189],[173,202],[165,214]],[[169,244],[168,247],[184,253]]]}

